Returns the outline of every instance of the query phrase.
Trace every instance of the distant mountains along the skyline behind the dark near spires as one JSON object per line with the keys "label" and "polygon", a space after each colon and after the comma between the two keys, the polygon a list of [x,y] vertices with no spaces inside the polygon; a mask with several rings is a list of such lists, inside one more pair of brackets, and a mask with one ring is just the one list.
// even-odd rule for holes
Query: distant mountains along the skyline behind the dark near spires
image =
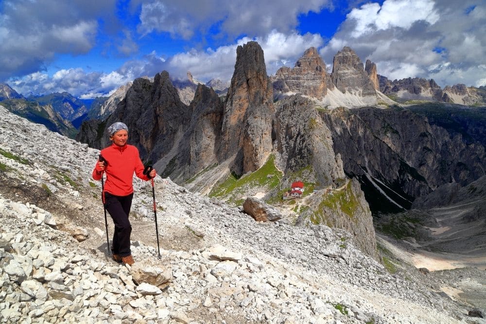
{"label": "distant mountains along the skyline behind the dark near spires", "polygon": [[[486,87],[479,88],[463,84],[445,86],[443,89],[433,79],[407,78],[391,81],[377,73],[376,64],[367,60],[363,65],[358,55],[349,47],[339,51],[333,60],[332,73],[326,72],[326,64],[315,48],[306,50],[295,63],[294,68],[282,67],[270,76],[273,95],[276,99],[292,94],[314,98],[323,107],[339,106],[360,107],[369,105],[390,106],[396,103],[416,103],[418,101],[448,102],[471,106],[486,105]],[[187,73],[186,80],[172,80],[181,102],[189,105],[194,98],[197,86],[204,84]],[[23,116],[35,116],[39,109],[46,112],[52,109],[64,120],[63,126],[56,129],[59,120],[35,119],[45,123],[50,129],[64,135],[76,134],[82,122],[87,119],[104,120],[112,114],[124,99],[132,82],[122,85],[109,97],[80,100],[68,92],[52,93],[43,96],[24,98],[7,84],[0,83],[0,103],[8,106],[22,106],[22,102],[37,102],[35,111],[27,113],[31,105],[23,106]],[[205,83],[216,94],[223,96],[228,91],[227,84],[220,80]],[[19,102],[13,104],[13,101]],[[8,101],[8,102],[7,102]],[[44,106],[50,106],[51,108]],[[18,109],[12,112],[19,112]],[[32,121],[35,121],[34,119]],[[73,129],[71,129],[71,127]]]}

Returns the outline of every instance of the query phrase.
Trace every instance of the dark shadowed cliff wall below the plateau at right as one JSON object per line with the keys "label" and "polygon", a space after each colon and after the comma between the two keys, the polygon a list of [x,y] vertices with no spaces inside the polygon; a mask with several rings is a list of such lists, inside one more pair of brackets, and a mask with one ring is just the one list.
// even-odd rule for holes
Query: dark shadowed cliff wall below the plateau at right
{"label": "dark shadowed cliff wall below the plateau at right", "polygon": [[[442,184],[467,184],[484,174],[480,143],[468,145],[460,134],[449,134],[409,110],[335,109],[321,116],[345,172],[371,189],[381,187],[400,207],[409,208]],[[373,204],[373,195],[367,198],[370,205],[384,205]]]}

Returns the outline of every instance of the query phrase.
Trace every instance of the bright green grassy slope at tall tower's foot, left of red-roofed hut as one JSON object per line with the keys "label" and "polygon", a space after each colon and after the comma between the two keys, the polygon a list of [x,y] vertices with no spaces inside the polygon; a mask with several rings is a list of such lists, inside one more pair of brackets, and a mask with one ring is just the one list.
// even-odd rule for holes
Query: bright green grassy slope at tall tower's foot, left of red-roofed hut
{"label": "bright green grassy slope at tall tower's foot, left of red-roofed hut", "polygon": [[244,193],[245,187],[266,187],[267,190],[271,190],[278,186],[281,175],[282,172],[275,166],[275,156],[272,154],[260,169],[252,173],[241,178],[234,173],[230,174],[222,184],[212,188],[209,197],[228,197],[237,192]]}

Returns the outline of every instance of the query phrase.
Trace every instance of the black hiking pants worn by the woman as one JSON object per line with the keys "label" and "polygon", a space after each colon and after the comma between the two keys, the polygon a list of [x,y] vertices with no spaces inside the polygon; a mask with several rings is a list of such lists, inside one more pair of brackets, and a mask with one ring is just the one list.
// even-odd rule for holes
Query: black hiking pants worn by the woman
{"label": "black hiking pants worn by the woman", "polygon": [[119,256],[130,256],[130,234],[132,225],[128,220],[130,208],[132,207],[133,193],[128,196],[115,196],[104,192],[104,207],[110,214],[115,224],[111,253]]}

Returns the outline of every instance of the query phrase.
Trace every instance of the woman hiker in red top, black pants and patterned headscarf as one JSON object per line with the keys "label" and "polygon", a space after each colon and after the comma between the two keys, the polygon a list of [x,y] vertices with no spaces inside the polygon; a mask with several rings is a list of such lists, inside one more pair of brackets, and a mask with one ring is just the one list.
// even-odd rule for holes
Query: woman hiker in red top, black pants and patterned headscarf
{"label": "woman hiker in red top, black pants and patterned headscarf", "polygon": [[132,265],[135,261],[130,251],[132,226],[128,214],[133,198],[133,172],[147,181],[156,176],[156,171],[152,169],[148,176],[143,174],[139,150],[126,143],[128,127],[124,123],[118,121],[110,125],[108,135],[113,143],[101,151],[104,161],[96,163],[92,176],[94,180],[101,180],[103,172],[106,173],[102,200],[115,224],[111,247],[113,259]]}

